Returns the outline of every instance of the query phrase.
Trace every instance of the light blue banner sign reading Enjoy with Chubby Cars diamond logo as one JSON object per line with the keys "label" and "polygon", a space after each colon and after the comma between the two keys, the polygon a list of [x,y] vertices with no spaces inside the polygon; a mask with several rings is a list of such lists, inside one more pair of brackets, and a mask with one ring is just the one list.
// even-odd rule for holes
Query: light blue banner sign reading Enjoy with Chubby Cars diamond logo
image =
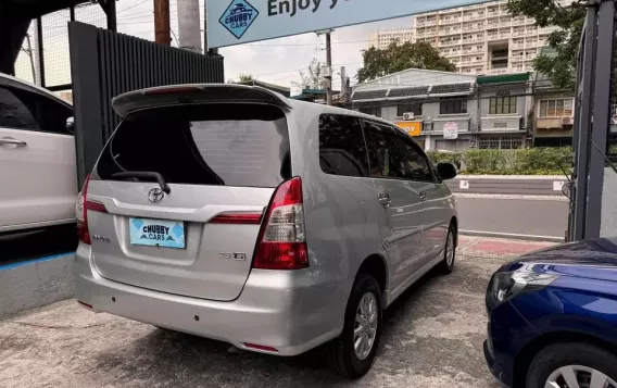
{"label": "light blue banner sign reading Enjoy with Chubby Cars diamond logo", "polygon": [[206,0],[209,48],[319,32],[486,1]]}

